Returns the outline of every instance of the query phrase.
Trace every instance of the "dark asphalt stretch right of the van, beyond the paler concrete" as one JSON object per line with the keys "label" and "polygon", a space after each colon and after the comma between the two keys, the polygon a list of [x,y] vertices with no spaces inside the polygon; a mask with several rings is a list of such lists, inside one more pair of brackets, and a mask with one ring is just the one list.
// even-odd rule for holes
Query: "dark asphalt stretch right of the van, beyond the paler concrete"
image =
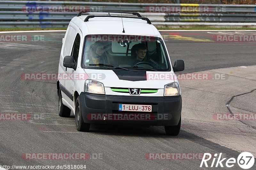
{"label": "dark asphalt stretch right of the van, beyond the paler concrete", "polygon": [[[256,32],[161,32],[167,35],[167,48],[172,63],[185,62],[185,72],[255,65],[255,41],[225,41],[225,35],[256,35]],[[232,35],[233,34],[233,35]],[[217,41],[217,35],[220,35]],[[233,38],[230,37],[230,38]],[[223,41],[221,41],[223,40]],[[231,39],[232,40],[232,39]]]}

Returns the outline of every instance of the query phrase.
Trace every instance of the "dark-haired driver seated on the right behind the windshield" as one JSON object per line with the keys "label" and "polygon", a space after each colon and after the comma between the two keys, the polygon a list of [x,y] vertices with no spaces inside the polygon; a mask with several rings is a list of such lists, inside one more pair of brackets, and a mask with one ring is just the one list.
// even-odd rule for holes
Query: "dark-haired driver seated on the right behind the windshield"
{"label": "dark-haired driver seated on the right behind the windshield", "polygon": [[132,46],[131,56],[132,60],[128,61],[127,64],[134,66],[137,63],[145,62],[147,60],[147,46],[145,44],[139,43]]}

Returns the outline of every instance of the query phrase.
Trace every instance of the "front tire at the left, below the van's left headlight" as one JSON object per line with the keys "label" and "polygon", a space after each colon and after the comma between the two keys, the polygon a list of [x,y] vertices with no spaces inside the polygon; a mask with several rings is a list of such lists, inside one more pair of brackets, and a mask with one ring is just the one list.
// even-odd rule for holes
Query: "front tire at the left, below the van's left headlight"
{"label": "front tire at the left, below the van's left headlight", "polygon": [[80,111],[80,100],[79,97],[76,99],[76,110],[75,110],[76,130],[80,132],[87,132],[90,129],[90,123],[84,123],[83,116]]}

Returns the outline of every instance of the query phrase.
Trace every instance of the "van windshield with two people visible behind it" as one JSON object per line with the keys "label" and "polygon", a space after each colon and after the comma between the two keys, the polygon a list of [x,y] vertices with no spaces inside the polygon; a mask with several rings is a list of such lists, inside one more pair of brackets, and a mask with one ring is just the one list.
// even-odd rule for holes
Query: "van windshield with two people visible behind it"
{"label": "van windshield with two people visible behind it", "polygon": [[84,45],[83,67],[169,71],[170,63],[159,37],[88,35]]}

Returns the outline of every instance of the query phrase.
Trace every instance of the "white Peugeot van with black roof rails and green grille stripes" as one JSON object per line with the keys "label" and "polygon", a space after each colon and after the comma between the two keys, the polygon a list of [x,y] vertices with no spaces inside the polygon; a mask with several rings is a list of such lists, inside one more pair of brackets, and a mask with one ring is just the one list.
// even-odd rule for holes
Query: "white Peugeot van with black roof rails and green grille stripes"
{"label": "white Peugeot van with black roof rails and green grille stripes", "polygon": [[[182,99],[163,37],[136,12],[81,11],[72,18],[60,53],[59,115],[90,124],[164,126],[178,135]],[[103,14],[102,14],[103,13]],[[126,16],[124,16],[126,15]]]}

